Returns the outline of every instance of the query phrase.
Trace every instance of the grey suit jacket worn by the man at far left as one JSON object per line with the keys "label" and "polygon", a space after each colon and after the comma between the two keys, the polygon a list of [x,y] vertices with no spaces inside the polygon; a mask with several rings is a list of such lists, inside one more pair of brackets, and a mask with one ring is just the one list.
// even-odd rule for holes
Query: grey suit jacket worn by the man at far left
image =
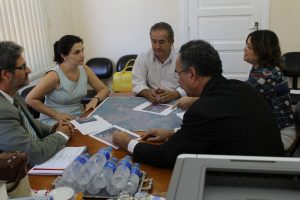
{"label": "grey suit jacket worn by the man at far left", "polygon": [[30,164],[42,163],[59,151],[67,140],[58,133],[52,134],[50,126],[35,120],[20,95],[15,98],[40,140],[35,141],[29,135],[18,109],[0,93],[0,149],[22,151],[28,154]]}

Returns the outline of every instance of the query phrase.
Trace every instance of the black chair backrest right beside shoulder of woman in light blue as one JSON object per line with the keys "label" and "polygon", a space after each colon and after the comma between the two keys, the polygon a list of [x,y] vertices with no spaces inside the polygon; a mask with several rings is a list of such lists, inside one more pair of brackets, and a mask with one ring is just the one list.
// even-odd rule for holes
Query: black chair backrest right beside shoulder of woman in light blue
{"label": "black chair backrest right beside shoulder of woman in light blue", "polygon": [[108,58],[92,58],[86,62],[86,65],[89,66],[100,79],[109,78],[113,73],[113,65]]}

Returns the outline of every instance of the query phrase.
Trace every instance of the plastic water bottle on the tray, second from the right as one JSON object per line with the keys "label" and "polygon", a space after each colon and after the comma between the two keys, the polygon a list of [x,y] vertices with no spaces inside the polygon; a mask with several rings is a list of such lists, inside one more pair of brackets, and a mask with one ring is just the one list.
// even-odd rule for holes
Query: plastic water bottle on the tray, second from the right
{"label": "plastic water bottle on the tray, second from the right", "polygon": [[111,184],[114,187],[118,189],[122,189],[123,187],[125,187],[130,175],[131,166],[132,161],[130,156],[125,156],[122,160],[119,161],[117,169],[111,178]]}

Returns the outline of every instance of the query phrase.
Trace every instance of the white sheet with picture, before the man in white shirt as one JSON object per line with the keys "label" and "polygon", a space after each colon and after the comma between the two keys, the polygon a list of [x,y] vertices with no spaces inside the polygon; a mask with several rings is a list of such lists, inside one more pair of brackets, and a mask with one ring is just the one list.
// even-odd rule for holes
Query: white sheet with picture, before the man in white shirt
{"label": "white sheet with picture, before the man in white shirt", "polygon": [[169,105],[169,104],[153,104],[148,101],[148,102],[145,102],[145,103],[142,103],[142,104],[136,106],[132,110],[167,116],[174,109],[176,109],[176,108],[172,109],[172,105]]}

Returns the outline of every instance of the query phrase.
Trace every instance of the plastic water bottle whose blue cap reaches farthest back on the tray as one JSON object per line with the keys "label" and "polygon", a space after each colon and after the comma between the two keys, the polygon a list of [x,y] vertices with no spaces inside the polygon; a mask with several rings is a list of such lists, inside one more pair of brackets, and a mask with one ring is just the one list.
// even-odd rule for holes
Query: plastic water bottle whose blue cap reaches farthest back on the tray
{"label": "plastic water bottle whose blue cap reaches farthest back on the tray", "polygon": [[77,182],[80,185],[87,185],[92,177],[99,173],[106,161],[110,158],[112,147],[101,148],[95,153],[86,164],[79,170]]}

